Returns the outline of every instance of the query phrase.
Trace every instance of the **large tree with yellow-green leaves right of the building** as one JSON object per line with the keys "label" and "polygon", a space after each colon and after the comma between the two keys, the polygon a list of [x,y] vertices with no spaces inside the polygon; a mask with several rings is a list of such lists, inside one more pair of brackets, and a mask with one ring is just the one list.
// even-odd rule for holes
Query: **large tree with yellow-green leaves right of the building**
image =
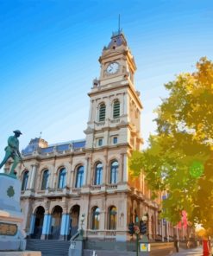
{"label": "large tree with yellow-green leaves right of the building", "polygon": [[213,227],[213,63],[202,58],[196,67],[165,85],[156,134],[133,152],[129,169],[132,176],[143,171],[153,191],[167,191],[164,218],[176,224],[185,210],[192,223]]}

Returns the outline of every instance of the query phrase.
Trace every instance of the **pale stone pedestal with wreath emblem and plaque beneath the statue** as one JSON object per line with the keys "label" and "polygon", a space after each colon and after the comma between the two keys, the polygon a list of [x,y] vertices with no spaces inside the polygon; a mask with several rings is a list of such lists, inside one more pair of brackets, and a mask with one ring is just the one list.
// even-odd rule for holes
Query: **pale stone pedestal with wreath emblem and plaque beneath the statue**
{"label": "pale stone pedestal with wreath emblem and plaque beneath the statue", "polygon": [[23,251],[25,233],[21,224],[21,182],[13,176],[0,173],[0,251]]}

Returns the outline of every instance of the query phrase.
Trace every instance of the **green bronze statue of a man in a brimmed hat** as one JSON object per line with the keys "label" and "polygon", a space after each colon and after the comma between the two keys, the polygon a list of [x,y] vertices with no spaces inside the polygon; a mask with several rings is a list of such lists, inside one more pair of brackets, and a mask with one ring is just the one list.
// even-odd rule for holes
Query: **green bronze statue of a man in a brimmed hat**
{"label": "green bronze statue of a man in a brimmed hat", "polygon": [[20,137],[20,135],[22,134],[21,131],[16,130],[13,131],[15,133],[15,135],[13,136],[9,136],[8,138],[8,146],[5,148],[5,157],[3,158],[3,162],[0,163],[0,169],[3,167],[3,164],[6,163],[9,159],[9,157],[13,158],[14,163],[12,165],[12,168],[9,172],[9,175],[11,176],[15,176],[15,168],[17,166],[18,163],[20,163],[22,161],[22,156],[21,153],[19,151],[19,141],[18,138]]}

